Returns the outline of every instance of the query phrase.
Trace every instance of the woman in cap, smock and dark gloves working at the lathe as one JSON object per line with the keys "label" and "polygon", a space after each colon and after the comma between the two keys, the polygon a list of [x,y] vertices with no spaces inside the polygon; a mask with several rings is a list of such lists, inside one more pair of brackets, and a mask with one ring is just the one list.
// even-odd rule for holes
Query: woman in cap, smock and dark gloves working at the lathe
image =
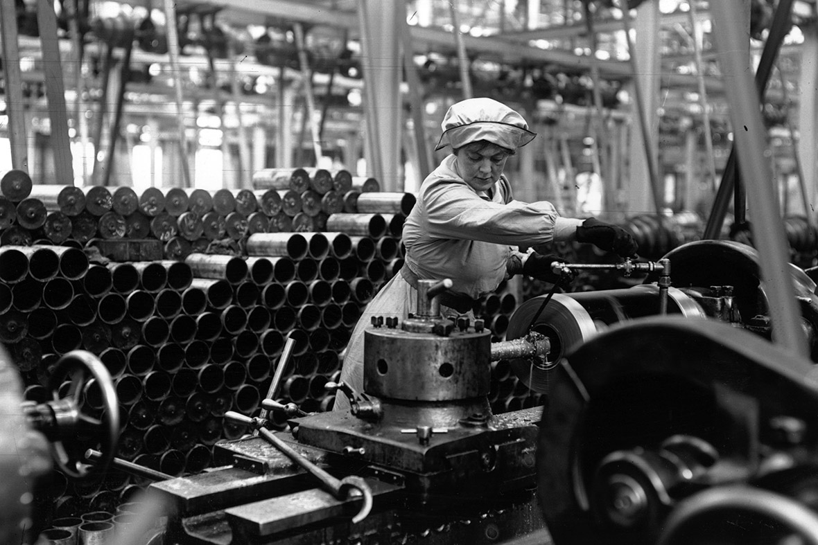
{"label": "woman in cap, smock and dark gloves working at the lathe", "polygon": [[[415,312],[418,279],[452,279],[452,288],[438,301],[444,317],[456,318],[470,315],[474,299],[515,274],[556,281],[553,257],[521,253],[519,246],[577,240],[622,257],[636,254],[636,242],[618,226],[560,217],[551,203],[514,199],[503,168],[517,148],[537,136],[515,110],[490,98],[472,98],[452,105],[442,127],[435,150],[451,145],[452,154],[420,185],[403,226],[404,265],[366,306],[348,343],[341,380],[358,392],[364,330],[372,316],[405,318]],[[346,396],[336,395],[335,410],[348,409]]]}

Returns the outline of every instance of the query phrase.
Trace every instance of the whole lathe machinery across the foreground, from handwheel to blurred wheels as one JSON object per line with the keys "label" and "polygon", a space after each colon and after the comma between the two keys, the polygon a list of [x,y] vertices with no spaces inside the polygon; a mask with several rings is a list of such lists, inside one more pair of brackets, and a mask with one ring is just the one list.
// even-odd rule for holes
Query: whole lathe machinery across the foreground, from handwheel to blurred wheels
{"label": "whole lathe machinery across the foreground, from handwheel to blurred wheels", "polygon": [[[367,330],[364,391],[330,384],[350,412],[267,400],[289,417],[279,432],[232,415],[252,432],[217,444],[217,467],[199,475],[144,471],[144,524],[110,543],[818,543],[818,385],[812,361],[765,338],[757,254],[702,241],[609,267],[647,274],[530,300],[497,343],[479,321],[439,316],[447,284],[421,284],[417,315]],[[815,354],[816,284],[794,267],[791,278]],[[546,407],[492,414],[492,360],[512,362]],[[106,380],[78,355],[56,373],[82,382],[75,369]],[[56,441],[57,465],[85,478],[113,458],[108,436],[88,466],[70,434],[110,429],[116,404],[83,417],[79,382],[24,413]],[[34,520],[25,506],[6,515]]]}

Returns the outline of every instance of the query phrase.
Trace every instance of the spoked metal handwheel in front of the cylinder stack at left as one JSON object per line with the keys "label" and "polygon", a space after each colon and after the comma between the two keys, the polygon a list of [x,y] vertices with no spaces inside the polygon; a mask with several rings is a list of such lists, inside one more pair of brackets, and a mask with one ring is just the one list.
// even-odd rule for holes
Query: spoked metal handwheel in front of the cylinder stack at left
{"label": "spoked metal handwheel in front of the cylinder stack at left", "polygon": [[[61,399],[60,386],[69,377],[70,386]],[[92,385],[92,380],[99,388],[99,418],[83,412],[87,408],[83,392]],[[119,403],[108,369],[90,352],[70,351],[57,361],[47,387],[53,397],[47,402],[53,412],[53,425],[51,430],[43,431],[52,441],[57,467],[75,480],[94,480],[103,475],[114,458],[119,439]],[[88,449],[87,444],[81,444],[84,437],[99,442],[99,462],[84,462]]]}

